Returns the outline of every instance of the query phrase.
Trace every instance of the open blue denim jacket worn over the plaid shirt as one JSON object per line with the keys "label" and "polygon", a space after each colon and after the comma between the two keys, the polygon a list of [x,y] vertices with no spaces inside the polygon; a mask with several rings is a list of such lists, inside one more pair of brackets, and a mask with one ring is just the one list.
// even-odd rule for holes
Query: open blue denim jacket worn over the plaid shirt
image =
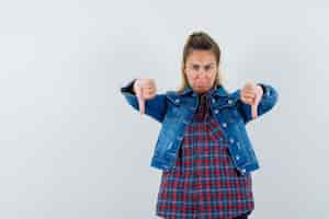
{"label": "open blue denim jacket worn over the plaid shirt", "polygon": [[[121,88],[127,103],[139,111],[137,97],[133,91],[136,79]],[[258,105],[258,116],[269,112],[276,103],[276,90],[264,83],[263,96]],[[240,90],[227,92],[223,85],[211,93],[211,110],[229,141],[229,153],[237,170],[245,175],[260,168],[252,143],[246,130],[251,117],[251,106],[240,100]],[[161,129],[154,149],[150,165],[159,170],[170,170],[178,157],[185,126],[191,122],[198,105],[197,94],[186,88],[182,93],[167,91],[145,101],[145,114],[161,123]]]}

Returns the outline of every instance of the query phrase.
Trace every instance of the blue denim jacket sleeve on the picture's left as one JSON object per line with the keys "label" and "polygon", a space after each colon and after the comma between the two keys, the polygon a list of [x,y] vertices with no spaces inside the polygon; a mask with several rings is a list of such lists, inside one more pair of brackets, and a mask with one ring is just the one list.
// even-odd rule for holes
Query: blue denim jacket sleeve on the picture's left
{"label": "blue denim jacket sleeve on the picture's left", "polygon": [[[121,88],[121,93],[124,95],[127,103],[136,111],[139,111],[137,95],[133,90],[136,79],[133,79],[127,84]],[[162,123],[167,112],[166,94],[156,94],[155,97],[145,101],[145,114]]]}

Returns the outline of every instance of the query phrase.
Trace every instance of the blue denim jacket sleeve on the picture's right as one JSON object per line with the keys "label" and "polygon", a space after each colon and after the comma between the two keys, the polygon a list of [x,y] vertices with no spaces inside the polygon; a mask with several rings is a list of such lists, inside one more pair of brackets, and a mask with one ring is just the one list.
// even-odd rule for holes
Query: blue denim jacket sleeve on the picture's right
{"label": "blue denim jacket sleeve on the picture's right", "polygon": [[[261,85],[263,89],[263,95],[259,102],[259,105],[257,107],[257,114],[258,117],[263,115],[264,113],[269,112],[277,102],[279,93],[270,84],[265,83],[258,83],[258,85]],[[245,124],[252,120],[251,115],[251,105],[246,104],[240,99],[240,90],[238,90],[239,93],[239,100],[238,100],[238,110],[241,113]],[[258,118],[257,117],[257,118]]]}

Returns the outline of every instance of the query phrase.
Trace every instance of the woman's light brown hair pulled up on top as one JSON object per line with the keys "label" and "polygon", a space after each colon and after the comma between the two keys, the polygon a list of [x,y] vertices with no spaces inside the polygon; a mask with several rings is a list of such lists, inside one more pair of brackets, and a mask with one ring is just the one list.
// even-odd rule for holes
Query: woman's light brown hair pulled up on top
{"label": "woman's light brown hair pulled up on top", "polygon": [[216,66],[217,66],[217,73],[216,79],[214,82],[214,87],[220,85],[222,78],[219,77],[219,64],[220,64],[220,49],[219,46],[216,44],[216,42],[205,32],[193,32],[183,48],[183,59],[182,59],[182,66],[181,66],[181,74],[182,74],[182,83],[179,88],[178,92],[182,92],[185,88],[190,87],[186,76],[184,74],[184,68],[188,60],[189,55],[195,50],[209,50],[213,51],[216,59]]}

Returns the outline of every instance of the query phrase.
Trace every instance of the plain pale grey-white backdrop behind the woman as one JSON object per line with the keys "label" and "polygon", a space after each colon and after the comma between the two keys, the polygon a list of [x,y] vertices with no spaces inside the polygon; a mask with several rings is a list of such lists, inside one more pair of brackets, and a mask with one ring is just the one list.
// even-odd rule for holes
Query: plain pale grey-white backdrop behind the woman
{"label": "plain pale grey-white backdrop behind the woman", "polygon": [[251,219],[329,218],[326,1],[1,1],[0,218],[154,219],[160,124],[120,88],[180,85],[194,31],[223,51],[229,91],[273,85],[248,125],[261,169]]}

